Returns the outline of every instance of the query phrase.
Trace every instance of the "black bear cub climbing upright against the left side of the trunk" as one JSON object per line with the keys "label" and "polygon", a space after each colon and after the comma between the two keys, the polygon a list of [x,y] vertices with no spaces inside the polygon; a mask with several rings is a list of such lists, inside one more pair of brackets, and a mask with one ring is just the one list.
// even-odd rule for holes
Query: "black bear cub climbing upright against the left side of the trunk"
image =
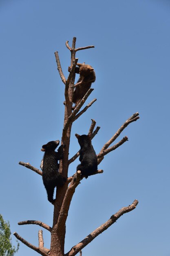
{"label": "black bear cub climbing upright against the left side of the trunk", "polygon": [[42,146],[44,151],[42,166],[42,180],[46,188],[48,200],[51,203],[55,202],[53,199],[53,193],[55,186],[63,186],[66,182],[66,178],[63,177],[59,172],[58,160],[63,158],[64,145],[58,148],[58,152],[55,152],[55,148],[59,145],[60,141],[49,141],[47,144]]}

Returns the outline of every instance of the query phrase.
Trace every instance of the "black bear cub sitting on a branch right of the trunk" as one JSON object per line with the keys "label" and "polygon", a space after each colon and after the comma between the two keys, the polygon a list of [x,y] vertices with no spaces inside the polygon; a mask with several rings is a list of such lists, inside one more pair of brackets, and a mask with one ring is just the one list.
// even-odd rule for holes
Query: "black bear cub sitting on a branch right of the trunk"
{"label": "black bear cub sitting on a branch right of the trunk", "polygon": [[80,145],[79,161],[81,164],[77,166],[77,171],[81,171],[81,175],[87,179],[88,176],[97,171],[97,156],[91,144],[90,135],[80,136],[76,133],[75,137],[78,139]]}

